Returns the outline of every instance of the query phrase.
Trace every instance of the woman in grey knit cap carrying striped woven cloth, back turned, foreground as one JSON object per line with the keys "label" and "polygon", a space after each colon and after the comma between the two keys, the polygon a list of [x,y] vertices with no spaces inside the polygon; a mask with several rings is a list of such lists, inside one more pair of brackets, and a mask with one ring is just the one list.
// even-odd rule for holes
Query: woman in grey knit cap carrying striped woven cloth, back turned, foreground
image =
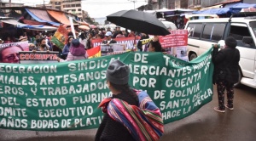
{"label": "woman in grey knit cap carrying striped woven cloth, back turned, foreground", "polygon": [[[164,132],[159,108],[150,99],[148,93],[134,90],[129,86],[129,76],[129,66],[118,59],[113,60],[108,65],[106,80],[112,97],[103,99],[99,105],[105,114],[96,132],[96,141],[133,141],[138,138],[141,140],[152,140],[153,136],[154,140],[156,140],[155,138],[160,138]],[[143,109],[140,109],[140,107],[143,107]],[[152,112],[152,115],[148,116],[152,120],[145,120],[148,117],[141,116],[145,112],[144,110]],[[154,121],[153,119],[159,120]]]}

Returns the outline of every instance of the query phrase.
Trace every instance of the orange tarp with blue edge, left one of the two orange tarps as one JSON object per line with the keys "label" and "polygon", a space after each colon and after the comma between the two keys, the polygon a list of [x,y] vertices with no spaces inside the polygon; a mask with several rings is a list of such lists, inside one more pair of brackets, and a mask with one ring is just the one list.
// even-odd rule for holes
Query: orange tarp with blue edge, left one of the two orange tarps
{"label": "orange tarp with blue edge, left one of the two orange tarps", "polygon": [[50,25],[59,26],[60,23],[50,20],[49,15],[45,10],[26,8],[26,12],[32,16],[33,19],[42,23],[49,23]]}

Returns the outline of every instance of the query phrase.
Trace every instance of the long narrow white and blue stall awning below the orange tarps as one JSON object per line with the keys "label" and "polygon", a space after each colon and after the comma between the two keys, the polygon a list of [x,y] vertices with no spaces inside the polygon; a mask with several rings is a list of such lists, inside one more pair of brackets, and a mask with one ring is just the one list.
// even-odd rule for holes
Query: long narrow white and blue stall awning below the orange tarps
{"label": "long narrow white and blue stall awning below the orange tarps", "polygon": [[56,31],[57,30],[56,27],[46,26],[46,25],[26,25],[13,19],[0,20],[0,21],[9,25],[15,25],[17,28],[22,28],[27,30],[34,30],[34,31]]}

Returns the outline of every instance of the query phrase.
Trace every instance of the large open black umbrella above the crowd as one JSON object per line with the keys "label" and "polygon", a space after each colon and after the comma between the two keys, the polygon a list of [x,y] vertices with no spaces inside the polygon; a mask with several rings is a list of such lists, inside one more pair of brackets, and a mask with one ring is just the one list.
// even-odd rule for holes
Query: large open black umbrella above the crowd
{"label": "large open black umbrella above the crowd", "polygon": [[107,16],[107,20],[115,25],[150,35],[166,36],[170,31],[154,15],[136,10],[121,10]]}

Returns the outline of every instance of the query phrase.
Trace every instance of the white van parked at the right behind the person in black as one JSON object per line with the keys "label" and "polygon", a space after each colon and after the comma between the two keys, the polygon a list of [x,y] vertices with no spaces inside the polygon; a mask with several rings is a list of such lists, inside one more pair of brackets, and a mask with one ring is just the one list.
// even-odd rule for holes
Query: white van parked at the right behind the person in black
{"label": "white van parked at the right behind the person in black", "polygon": [[189,60],[205,53],[212,44],[224,40],[226,37],[235,37],[241,54],[239,62],[240,84],[256,88],[256,18],[220,18],[205,20],[190,20],[185,29],[188,30],[188,57]]}

